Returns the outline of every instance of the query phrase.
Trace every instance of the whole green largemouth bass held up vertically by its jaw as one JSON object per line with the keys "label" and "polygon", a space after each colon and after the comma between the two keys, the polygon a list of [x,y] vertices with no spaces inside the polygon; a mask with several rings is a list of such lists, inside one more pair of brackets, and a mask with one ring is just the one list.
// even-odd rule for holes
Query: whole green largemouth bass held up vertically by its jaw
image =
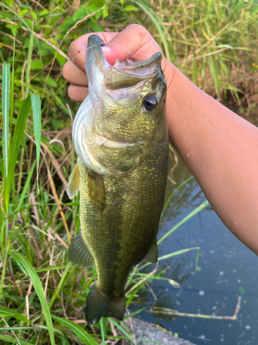
{"label": "whole green largemouth bass held up vertically by its jaw", "polygon": [[87,41],[89,95],[72,130],[77,164],[67,193],[80,191],[80,228],[68,258],[96,266],[87,295],[88,324],[125,315],[125,284],[143,259],[157,262],[157,234],[164,203],[169,139],[164,114],[166,80],[162,54],[111,66],[103,42]]}

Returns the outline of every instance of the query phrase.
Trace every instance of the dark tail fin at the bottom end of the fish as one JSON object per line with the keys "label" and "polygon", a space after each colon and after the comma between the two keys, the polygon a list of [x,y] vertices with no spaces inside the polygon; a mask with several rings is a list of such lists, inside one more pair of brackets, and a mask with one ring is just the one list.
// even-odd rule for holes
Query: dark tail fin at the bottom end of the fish
{"label": "dark tail fin at the bottom end of the fish", "polygon": [[101,317],[116,317],[122,321],[125,314],[125,296],[110,298],[94,285],[87,296],[85,317],[88,324]]}

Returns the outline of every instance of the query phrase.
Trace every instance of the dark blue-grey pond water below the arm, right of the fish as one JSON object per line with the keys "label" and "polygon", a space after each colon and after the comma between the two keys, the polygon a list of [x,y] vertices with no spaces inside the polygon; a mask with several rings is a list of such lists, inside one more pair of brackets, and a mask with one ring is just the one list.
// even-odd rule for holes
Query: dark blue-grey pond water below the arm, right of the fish
{"label": "dark blue-grey pond water below the arm, right of the fish", "polygon": [[[180,160],[173,178],[177,186],[190,177],[189,170]],[[168,197],[173,189],[170,181]],[[194,179],[175,193],[160,224],[159,238],[178,224],[206,198]],[[236,321],[171,317],[141,313],[147,322],[163,328],[197,345],[244,345],[258,344],[258,257],[224,226],[211,207],[202,210],[187,221],[159,246],[159,256],[175,250],[200,246],[200,271],[195,272],[196,250],[161,262],[167,268],[165,277],[180,282],[174,288],[169,282],[155,280],[150,283],[153,293],[141,290],[139,304],[175,309],[181,313],[233,316],[237,296],[241,295],[241,309]],[[173,259],[173,260],[172,260]]]}

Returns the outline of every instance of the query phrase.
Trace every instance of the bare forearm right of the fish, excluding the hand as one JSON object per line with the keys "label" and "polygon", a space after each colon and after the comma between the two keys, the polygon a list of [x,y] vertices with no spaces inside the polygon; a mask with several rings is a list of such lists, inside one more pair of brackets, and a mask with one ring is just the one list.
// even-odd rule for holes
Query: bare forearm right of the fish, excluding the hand
{"label": "bare forearm right of the fish, excluding the hand", "polygon": [[171,142],[217,215],[258,254],[258,129],[173,65],[166,69],[171,70],[166,96]]}

